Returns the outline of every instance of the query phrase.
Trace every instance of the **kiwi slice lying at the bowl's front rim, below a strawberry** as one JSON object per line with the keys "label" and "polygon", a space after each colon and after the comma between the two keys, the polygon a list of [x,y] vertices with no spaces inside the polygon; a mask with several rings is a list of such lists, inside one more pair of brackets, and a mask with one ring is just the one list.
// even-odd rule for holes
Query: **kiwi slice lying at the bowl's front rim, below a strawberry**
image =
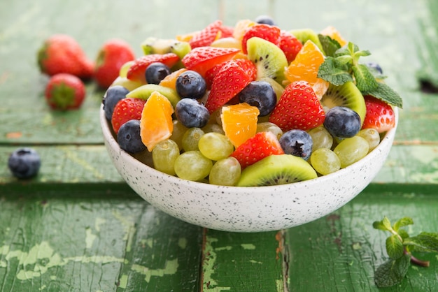
{"label": "kiwi slice lying at the bowl's front rim, below a strawberry", "polygon": [[238,187],[262,187],[290,184],[318,177],[304,159],[290,154],[270,155],[245,168]]}

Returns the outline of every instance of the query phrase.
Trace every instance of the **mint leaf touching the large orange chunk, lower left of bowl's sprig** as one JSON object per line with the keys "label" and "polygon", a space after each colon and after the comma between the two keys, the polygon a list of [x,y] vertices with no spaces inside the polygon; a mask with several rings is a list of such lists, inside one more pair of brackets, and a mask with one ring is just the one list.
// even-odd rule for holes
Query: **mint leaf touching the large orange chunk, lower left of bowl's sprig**
{"label": "mint leaf touching the large orange chunk, lower left of bowl's sprig", "polygon": [[351,75],[346,71],[346,66],[340,64],[333,57],[325,58],[323,64],[319,66],[318,78],[321,78],[332,85],[343,85],[348,81],[353,81]]}

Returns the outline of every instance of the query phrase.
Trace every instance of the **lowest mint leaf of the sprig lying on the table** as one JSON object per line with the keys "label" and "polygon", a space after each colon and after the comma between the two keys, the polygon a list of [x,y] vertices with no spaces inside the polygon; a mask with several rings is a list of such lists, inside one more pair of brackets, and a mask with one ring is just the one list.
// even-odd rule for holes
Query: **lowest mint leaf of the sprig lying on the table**
{"label": "lowest mint leaf of the sprig lying on the table", "polygon": [[402,282],[406,276],[411,257],[409,254],[404,256],[391,259],[386,263],[383,263],[374,272],[374,282],[378,287],[390,287]]}

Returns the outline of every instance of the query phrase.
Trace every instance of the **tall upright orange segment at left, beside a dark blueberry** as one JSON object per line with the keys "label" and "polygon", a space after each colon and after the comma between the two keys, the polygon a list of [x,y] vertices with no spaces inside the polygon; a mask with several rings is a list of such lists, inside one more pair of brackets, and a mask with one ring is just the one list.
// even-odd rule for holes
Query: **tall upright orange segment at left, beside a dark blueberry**
{"label": "tall upright orange segment at left, beside a dark blueberry", "polygon": [[159,92],[153,92],[146,101],[141,112],[140,137],[149,151],[171,136],[174,131],[173,112],[169,99]]}

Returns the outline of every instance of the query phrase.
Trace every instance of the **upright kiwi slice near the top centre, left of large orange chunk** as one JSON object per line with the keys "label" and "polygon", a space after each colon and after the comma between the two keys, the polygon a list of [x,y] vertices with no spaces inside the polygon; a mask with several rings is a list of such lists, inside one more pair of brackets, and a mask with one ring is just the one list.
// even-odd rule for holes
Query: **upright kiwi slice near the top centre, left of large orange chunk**
{"label": "upright kiwi slice near the top centre, left of large orange chunk", "polygon": [[284,68],[288,60],[277,45],[263,38],[253,37],[246,42],[248,59],[257,67],[257,80],[268,77],[280,83],[285,80]]}

